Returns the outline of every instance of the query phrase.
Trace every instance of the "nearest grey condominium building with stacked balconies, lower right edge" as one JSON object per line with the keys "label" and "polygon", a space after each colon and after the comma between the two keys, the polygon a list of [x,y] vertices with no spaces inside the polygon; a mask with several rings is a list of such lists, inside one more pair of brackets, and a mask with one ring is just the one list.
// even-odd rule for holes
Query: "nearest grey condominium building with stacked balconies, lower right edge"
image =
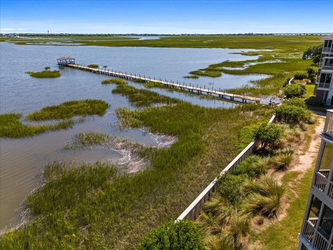
{"label": "nearest grey condominium building with stacked balconies, lower right edge", "polygon": [[[331,81],[332,83],[332,81]],[[327,117],[314,169],[298,250],[333,250],[333,110]]]}

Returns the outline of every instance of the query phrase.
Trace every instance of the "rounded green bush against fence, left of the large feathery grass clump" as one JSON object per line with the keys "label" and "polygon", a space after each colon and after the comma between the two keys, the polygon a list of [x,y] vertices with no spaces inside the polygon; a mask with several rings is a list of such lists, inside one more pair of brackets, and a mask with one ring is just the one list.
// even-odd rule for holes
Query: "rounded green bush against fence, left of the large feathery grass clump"
{"label": "rounded green bush against fence, left of the large feathery grass clump", "polygon": [[239,203],[244,197],[243,184],[246,181],[244,175],[223,174],[219,178],[218,192],[232,203]]}

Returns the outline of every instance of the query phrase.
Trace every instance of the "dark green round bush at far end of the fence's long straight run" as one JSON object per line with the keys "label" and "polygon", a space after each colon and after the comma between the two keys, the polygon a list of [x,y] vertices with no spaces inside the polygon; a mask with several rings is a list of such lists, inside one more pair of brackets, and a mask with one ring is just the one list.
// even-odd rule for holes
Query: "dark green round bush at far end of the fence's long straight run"
{"label": "dark green round bush at far end of the fence's long straight run", "polygon": [[261,142],[262,149],[265,149],[266,147],[272,147],[276,141],[280,140],[282,128],[277,124],[264,122],[255,128],[254,135],[255,139]]}

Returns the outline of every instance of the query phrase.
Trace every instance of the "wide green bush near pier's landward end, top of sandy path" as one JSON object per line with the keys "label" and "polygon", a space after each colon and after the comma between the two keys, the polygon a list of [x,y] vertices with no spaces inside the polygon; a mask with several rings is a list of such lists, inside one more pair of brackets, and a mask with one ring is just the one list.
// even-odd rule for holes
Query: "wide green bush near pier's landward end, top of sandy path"
{"label": "wide green bush near pier's landward end, top of sandy path", "polygon": [[300,122],[311,122],[311,113],[305,108],[282,104],[275,107],[276,119],[280,122],[298,124]]}

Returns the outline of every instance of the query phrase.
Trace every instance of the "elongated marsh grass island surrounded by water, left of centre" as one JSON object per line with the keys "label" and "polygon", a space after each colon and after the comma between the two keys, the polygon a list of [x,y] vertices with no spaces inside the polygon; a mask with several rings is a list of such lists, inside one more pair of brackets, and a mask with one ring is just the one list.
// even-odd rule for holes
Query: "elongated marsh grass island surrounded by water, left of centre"
{"label": "elongated marsh grass island surrounded by water, left of centre", "polygon": [[26,115],[30,121],[45,121],[49,119],[68,119],[76,115],[102,116],[108,109],[108,103],[101,100],[66,101],[55,106],[46,106],[40,111]]}

